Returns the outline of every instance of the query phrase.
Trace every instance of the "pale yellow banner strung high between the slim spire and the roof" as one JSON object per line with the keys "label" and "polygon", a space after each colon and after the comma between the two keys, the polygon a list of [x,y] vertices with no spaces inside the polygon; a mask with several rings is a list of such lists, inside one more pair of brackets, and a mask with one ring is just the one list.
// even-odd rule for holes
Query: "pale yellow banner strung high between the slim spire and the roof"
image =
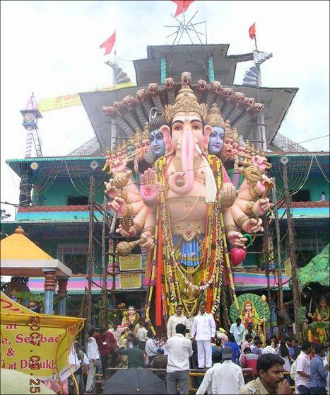
{"label": "pale yellow banner strung high between the slim spire and the roof", "polygon": [[[105,86],[105,88],[96,88],[95,91],[92,92],[115,91],[116,89],[126,88],[127,86],[134,86],[134,84],[132,82],[123,82],[122,84]],[[60,108],[72,107],[73,105],[81,104],[79,93],[71,93],[69,95],[57,96],[55,98],[40,99],[37,103],[41,112],[58,110]]]}

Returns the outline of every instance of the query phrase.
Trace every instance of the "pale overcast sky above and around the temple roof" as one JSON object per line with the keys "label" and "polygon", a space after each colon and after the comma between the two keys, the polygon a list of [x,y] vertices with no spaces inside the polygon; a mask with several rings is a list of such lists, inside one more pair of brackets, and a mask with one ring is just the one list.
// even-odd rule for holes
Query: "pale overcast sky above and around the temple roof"
{"label": "pale overcast sky above and around the temple roof", "polygon": [[[18,203],[20,179],[4,161],[24,157],[20,110],[30,93],[39,100],[110,86],[104,62],[113,57],[99,46],[114,29],[117,55],[135,83],[131,60],[146,57],[147,45],[172,43],[163,26],[175,22],[175,9],[167,0],[1,1],[2,202]],[[187,17],[196,11],[196,22],[207,21],[208,44],[230,44],[228,55],[254,50],[248,29],[255,21],[259,50],[273,53],[261,66],[263,86],[300,89],[280,132],[295,142],[329,134],[328,1],[196,0]],[[251,66],[237,65],[235,84]],[[39,126],[44,156],[66,155],[94,135],[82,105],[45,112]],[[329,137],[302,146],[329,151]],[[14,219],[11,206],[1,208]]]}

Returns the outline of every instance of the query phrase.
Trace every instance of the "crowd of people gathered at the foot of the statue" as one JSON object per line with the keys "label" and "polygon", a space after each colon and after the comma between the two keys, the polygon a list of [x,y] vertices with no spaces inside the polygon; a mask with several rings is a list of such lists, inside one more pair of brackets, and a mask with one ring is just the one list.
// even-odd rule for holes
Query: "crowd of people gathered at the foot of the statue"
{"label": "crowd of people gathered at the foot of the statue", "polygon": [[[292,393],[290,386],[298,394],[329,393],[329,347],[308,341],[300,346],[293,338],[279,341],[276,336],[263,343],[247,329],[240,318],[228,333],[216,328],[204,304],[192,322],[177,305],[163,336],[155,336],[142,319],[127,327],[92,328],[86,353],[75,344],[81,362],[75,372],[79,391],[92,392],[93,376],[106,379],[107,367],[152,367],[163,369],[155,374],[166,382],[169,394],[177,394],[177,387],[179,394],[189,394],[191,369],[206,370],[204,378],[193,378],[197,395],[280,395]],[[242,368],[249,369],[244,377]]]}

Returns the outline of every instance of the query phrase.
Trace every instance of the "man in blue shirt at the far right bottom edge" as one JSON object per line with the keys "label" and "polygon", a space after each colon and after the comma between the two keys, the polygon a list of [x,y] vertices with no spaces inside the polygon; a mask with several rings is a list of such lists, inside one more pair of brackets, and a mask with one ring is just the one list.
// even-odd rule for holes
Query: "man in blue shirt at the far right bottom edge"
{"label": "man in blue shirt at the far right bottom edge", "polygon": [[314,358],[310,362],[310,389],[312,395],[326,395],[326,376],[329,366],[324,367],[324,345],[314,345]]}

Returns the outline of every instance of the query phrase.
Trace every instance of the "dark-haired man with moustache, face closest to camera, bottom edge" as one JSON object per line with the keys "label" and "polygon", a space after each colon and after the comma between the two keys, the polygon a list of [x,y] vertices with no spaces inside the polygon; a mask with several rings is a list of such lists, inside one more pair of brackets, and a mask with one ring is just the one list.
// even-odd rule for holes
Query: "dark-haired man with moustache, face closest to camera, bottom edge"
{"label": "dark-haired man with moustache, face closest to camera, bottom edge", "polygon": [[240,389],[241,395],[289,395],[288,380],[284,379],[284,361],[276,354],[260,355],[257,360],[258,378]]}

